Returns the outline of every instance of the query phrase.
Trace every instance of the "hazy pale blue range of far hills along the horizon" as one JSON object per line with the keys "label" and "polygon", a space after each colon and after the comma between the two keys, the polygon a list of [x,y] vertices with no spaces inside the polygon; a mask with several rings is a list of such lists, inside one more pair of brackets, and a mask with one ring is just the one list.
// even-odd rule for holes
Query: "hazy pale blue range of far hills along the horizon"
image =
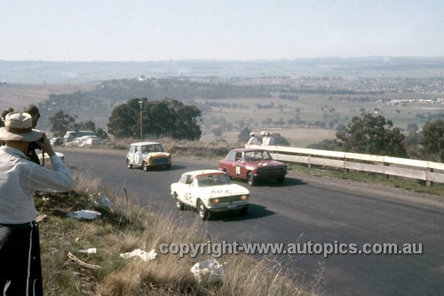
{"label": "hazy pale blue range of far hills along the horizon", "polygon": [[78,84],[169,76],[442,76],[444,58],[367,57],[297,60],[168,60],[144,62],[50,62],[0,60],[0,83]]}

